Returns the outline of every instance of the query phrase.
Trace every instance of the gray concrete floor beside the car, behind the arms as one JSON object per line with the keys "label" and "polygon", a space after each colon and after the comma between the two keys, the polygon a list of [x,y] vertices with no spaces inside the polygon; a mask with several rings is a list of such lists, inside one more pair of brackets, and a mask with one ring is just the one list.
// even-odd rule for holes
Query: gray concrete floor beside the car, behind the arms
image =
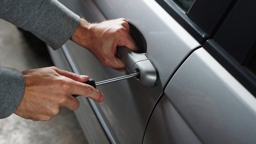
{"label": "gray concrete floor beside the car, behind the arms", "polygon": [[[0,19],[0,66],[23,71],[52,65],[44,43]],[[82,143],[87,141],[78,121],[66,108],[47,122],[34,122],[15,114],[0,119],[0,144]]]}

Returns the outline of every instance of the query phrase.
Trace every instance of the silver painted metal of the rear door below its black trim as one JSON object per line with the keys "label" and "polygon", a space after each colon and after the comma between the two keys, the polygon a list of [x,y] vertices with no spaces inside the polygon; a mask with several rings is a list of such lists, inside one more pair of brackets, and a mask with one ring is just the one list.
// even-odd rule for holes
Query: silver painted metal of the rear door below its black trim
{"label": "silver painted metal of the rear door below its black trim", "polygon": [[176,135],[160,129],[163,125],[169,129],[175,127],[175,123],[169,121],[172,111],[166,110],[171,105],[202,143],[255,143],[255,97],[203,48],[182,64],[167,85],[165,94],[149,122],[145,143],[154,140],[152,135],[159,138],[159,143],[169,143],[170,139],[161,138]]}

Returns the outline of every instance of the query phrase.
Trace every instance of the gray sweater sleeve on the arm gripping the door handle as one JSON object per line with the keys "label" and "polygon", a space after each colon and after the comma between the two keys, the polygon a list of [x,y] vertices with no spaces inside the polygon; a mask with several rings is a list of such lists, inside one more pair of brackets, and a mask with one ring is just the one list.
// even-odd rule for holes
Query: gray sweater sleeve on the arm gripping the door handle
{"label": "gray sweater sleeve on the arm gripping the door handle", "polygon": [[60,48],[80,22],[57,0],[0,0],[0,18],[32,32],[53,49]]}

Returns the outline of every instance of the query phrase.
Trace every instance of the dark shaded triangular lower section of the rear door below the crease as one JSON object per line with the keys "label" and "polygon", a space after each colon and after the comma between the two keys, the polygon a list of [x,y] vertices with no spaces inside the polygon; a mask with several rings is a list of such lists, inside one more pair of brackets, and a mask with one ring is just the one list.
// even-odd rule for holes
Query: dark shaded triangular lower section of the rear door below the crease
{"label": "dark shaded triangular lower section of the rear door below the crease", "polygon": [[165,94],[157,104],[150,118],[143,141],[143,144],[157,143],[201,143]]}

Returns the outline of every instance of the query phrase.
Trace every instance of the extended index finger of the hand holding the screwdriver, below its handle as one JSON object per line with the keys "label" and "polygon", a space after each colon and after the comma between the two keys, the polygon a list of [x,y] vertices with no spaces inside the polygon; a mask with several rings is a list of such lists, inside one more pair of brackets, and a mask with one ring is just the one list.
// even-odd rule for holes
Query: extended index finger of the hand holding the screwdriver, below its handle
{"label": "extended index finger of the hand holding the screwdriver, below its handle", "polygon": [[102,102],[104,100],[104,95],[88,84],[73,81],[72,85],[73,87],[71,94],[88,97],[96,102]]}

